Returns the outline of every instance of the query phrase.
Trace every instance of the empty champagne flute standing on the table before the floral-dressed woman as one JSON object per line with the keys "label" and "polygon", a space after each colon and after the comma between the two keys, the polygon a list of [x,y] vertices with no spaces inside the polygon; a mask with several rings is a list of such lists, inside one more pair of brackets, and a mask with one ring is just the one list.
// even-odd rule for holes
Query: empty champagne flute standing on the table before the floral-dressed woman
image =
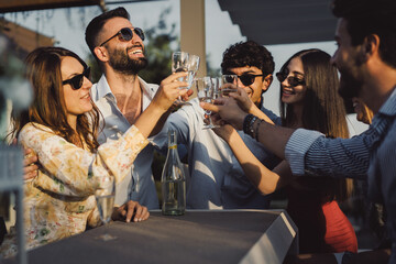
{"label": "empty champagne flute standing on the table before the floral-dressed woman", "polygon": [[105,224],[105,233],[99,237],[103,241],[117,239],[108,233],[108,223],[114,207],[116,180],[110,175],[99,177],[99,187],[95,191],[95,198],[99,209],[100,220]]}

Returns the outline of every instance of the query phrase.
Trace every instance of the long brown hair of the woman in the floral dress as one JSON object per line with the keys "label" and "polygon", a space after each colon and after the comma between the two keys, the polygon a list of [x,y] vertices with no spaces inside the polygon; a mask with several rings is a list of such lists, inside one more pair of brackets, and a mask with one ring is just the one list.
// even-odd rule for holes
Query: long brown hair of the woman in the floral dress
{"label": "long brown hair of the woman in the floral dress", "polygon": [[78,134],[68,124],[61,73],[62,58],[66,56],[76,58],[84,68],[87,67],[77,54],[62,47],[38,47],[28,55],[26,79],[32,85],[34,98],[28,111],[12,113],[12,134],[18,136],[26,123],[34,122],[50,128],[70,143],[76,143],[76,138],[82,138],[94,152],[99,146],[97,134],[100,112],[92,102],[91,111],[79,114]]}

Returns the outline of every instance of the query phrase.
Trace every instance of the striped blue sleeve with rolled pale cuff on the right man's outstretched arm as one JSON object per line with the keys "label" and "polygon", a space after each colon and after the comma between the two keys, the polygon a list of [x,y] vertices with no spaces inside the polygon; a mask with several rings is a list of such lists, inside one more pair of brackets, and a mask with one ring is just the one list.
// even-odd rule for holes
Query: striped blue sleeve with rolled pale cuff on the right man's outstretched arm
{"label": "striped blue sleeve with rolled pale cuff on the right man's outstretched arm", "polygon": [[328,139],[299,129],[286,144],[285,156],[293,174],[366,178],[370,150],[377,140],[374,129],[351,139]]}

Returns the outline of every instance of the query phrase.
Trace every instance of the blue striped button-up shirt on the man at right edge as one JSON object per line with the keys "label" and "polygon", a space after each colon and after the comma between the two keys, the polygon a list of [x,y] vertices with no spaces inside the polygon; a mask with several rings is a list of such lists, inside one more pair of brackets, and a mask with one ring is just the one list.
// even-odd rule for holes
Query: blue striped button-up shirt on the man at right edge
{"label": "blue striped button-up shirt on the man at right edge", "polygon": [[285,150],[295,175],[367,178],[369,195],[382,200],[393,241],[389,263],[396,263],[396,89],[364,133],[352,139],[326,139],[319,132],[297,130]]}

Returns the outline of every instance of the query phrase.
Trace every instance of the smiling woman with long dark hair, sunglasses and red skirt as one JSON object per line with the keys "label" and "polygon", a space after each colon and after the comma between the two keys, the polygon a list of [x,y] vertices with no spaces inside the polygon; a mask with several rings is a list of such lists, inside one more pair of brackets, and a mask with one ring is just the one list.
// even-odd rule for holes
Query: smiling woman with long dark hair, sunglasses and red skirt
{"label": "smiling woman with long dark hair, sunglasses and red skirt", "polygon": [[[277,74],[280,81],[282,125],[317,130],[332,138],[348,138],[345,110],[337,94],[338,74],[330,55],[320,50],[306,50],[293,55]],[[268,120],[244,91],[233,97],[245,110],[245,131],[254,138],[260,118]],[[276,123],[276,122],[275,122]],[[230,125],[217,131],[231,146],[245,175],[264,195],[280,187],[287,190],[287,212],[298,227],[300,253],[358,251],[352,224],[339,208],[352,186],[345,179],[310,177],[294,178],[287,162],[267,169],[251,154]]]}

